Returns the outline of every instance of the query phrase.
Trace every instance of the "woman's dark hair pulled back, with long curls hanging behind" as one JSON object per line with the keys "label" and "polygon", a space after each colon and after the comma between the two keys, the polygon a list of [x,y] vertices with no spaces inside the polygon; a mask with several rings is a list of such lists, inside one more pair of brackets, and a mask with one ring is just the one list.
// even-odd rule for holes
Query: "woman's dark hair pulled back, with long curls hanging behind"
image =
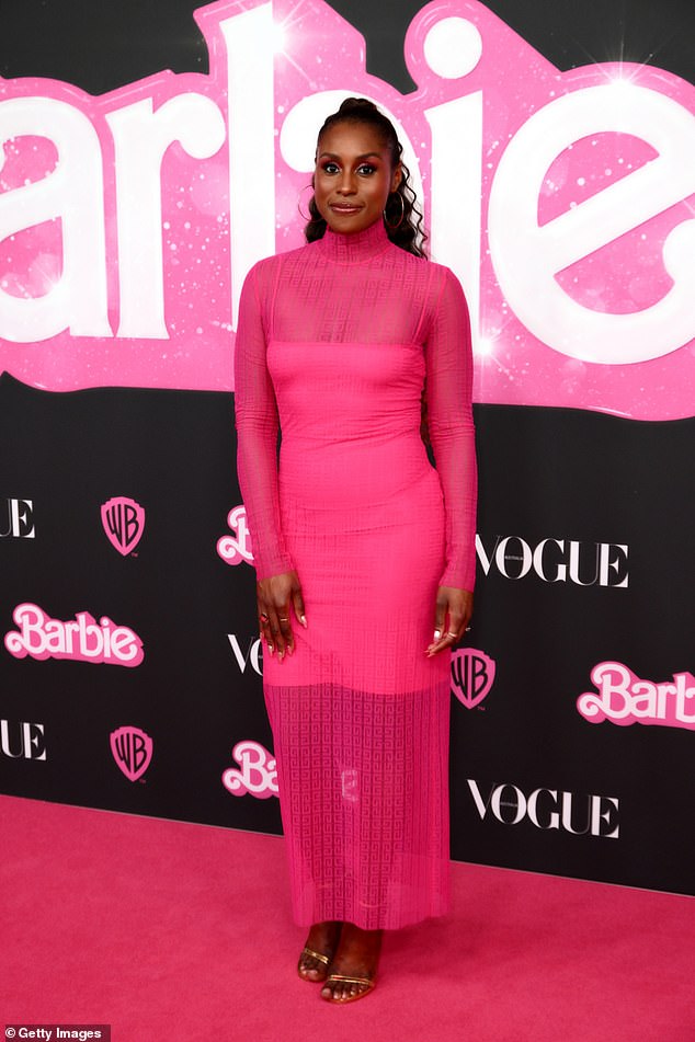
{"label": "woman's dark hair pulled back, with long curls hanging behind", "polygon": [[[422,214],[418,207],[415,193],[410,185],[410,171],[401,159],[403,149],[398,140],[394,124],[366,98],[346,98],[338,112],[328,116],[319,130],[318,140],[320,141],[322,135],[339,123],[361,123],[373,127],[391,154],[392,168],[396,169],[400,163],[400,184],[386,201],[384,227],[395,245],[406,250],[407,253],[412,253],[414,256],[425,256],[424,243],[428,237],[422,227]],[[400,198],[397,198],[397,196],[400,196]],[[307,222],[304,234],[307,242],[314,242],[316,239],[323,238],[327,227],[314,196],[309,201],[309,214],[311,219]]]}

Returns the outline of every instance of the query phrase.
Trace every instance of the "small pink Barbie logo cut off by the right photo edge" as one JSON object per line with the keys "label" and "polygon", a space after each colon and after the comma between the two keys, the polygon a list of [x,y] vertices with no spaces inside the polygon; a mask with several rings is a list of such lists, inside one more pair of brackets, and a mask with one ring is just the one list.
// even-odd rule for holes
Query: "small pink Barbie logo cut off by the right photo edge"
{"label": "small pink Barbie logo cut off by the right photo edge", "polygon": [[601,662],[591,671],[599,694],[585,691],[577,708],[590,723],[609,720],[620,726],[633,723],[695,731],[695,677],[675,673],[673,682],[641,680],[619,662]]}

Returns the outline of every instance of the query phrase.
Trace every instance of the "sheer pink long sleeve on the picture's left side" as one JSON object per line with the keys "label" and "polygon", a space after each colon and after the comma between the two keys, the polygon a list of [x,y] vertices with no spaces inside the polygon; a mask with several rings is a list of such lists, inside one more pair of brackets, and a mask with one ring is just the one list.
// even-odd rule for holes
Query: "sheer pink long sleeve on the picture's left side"
{"label": "sheer pink long sleeve on the picture's left side", "polygon": [[294,569],[277,489],[277,404],[266,366],[259,265],[243,284],[235,344],[237,469],[259,580]]}

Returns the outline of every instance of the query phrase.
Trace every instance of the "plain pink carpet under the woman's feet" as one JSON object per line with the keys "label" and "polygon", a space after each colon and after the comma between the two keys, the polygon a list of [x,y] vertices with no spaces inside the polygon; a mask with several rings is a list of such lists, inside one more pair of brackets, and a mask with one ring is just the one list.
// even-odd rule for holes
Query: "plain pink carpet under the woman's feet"
{"label": "plain pink carpet under the woman's feet", "polygon": [[114,1042],[695,1042],[690,897],[454,864],[454,911],[387,937],[334,1008],[295,974],[272,836],[0,798],[5,1023]]}

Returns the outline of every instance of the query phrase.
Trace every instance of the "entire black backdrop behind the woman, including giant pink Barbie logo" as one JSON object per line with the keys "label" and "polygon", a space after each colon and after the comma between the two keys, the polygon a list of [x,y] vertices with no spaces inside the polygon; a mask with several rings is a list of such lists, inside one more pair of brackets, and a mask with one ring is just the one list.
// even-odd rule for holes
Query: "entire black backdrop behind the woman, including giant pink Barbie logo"
{"label": "entire black backdrop behind the woman, including giant pink Barbie logo", "polygon": [[236,316],[361,94],[472,316],[453,857],[693,892],[694,32],[674,0],[3,4],[1,791],[280,831]]}

